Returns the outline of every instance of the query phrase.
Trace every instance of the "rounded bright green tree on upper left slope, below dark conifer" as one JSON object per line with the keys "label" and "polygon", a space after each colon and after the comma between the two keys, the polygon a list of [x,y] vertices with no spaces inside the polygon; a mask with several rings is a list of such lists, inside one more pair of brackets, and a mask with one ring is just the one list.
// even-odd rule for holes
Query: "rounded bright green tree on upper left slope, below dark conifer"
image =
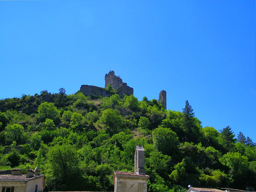
{"label": "rounded bright green tree on upper left slope, below dark conifer", "polygon": [[52,119],[55,124],[58,124],[60,120],[60,112],[53,103],[43,102],[38,106],[37,118],[40,122],[44,122],[47,118]]}

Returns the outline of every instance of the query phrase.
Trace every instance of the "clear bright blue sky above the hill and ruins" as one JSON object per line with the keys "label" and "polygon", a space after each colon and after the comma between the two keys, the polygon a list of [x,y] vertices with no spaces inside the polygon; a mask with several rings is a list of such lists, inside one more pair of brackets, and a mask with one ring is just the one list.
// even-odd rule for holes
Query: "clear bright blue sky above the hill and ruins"
{"label": "clear bright blue sky above the hill and ruins", "polygon": [[202,126],[256,142],[255,0],[0,1],[0,98],[104,87],[188,100]]}

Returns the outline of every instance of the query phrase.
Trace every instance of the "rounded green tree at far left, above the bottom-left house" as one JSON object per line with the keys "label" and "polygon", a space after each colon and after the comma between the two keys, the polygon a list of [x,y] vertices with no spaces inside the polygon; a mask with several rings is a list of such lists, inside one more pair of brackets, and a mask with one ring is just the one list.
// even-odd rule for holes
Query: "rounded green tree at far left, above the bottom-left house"
{"label": "rounded green tree at far left, above the bottom-left house", "polygon": [[5,128],[4,136],[6,144],[9,145],[13,141],[16,141],[18,144],[21,144],[24,141],[24,127],[20,124],[8,125]]}

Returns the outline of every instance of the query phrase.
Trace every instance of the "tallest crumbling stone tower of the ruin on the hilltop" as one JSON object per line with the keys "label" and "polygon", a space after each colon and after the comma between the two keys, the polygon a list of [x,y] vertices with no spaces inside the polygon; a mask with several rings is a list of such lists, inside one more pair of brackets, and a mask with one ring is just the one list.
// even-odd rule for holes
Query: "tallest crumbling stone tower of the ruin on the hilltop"
{"label": "tallest crumbling stone tower of the ruin on the hilltop", "polygon": [[123,80],[116,76],[114,71],[110,71],[105,75],[105,88],[107,88],[108,84],[122,94],[133,95],[133,88],[127,86],[127,83],[123,83]]}

